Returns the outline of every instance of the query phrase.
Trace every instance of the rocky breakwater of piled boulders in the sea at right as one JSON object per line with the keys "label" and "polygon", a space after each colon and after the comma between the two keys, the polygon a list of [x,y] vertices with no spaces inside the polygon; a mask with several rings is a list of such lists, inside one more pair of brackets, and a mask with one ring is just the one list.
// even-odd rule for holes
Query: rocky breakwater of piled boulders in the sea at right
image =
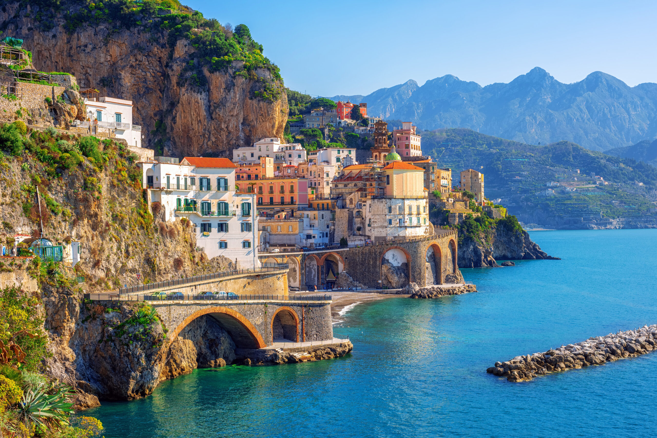
{"label": "rocky breakwater of piled boulders in the sea at right", "polygon": [[506,377],[509,382],[532,380],[549,372],[579,369],[590,365],[602,365],[618,359],[637,357],[657,347],[657,324],[643,326],[607,336],[597,336],[585,341],[562,345],[545,353],[516,356],[507,362],[495,362],[486,372]]}

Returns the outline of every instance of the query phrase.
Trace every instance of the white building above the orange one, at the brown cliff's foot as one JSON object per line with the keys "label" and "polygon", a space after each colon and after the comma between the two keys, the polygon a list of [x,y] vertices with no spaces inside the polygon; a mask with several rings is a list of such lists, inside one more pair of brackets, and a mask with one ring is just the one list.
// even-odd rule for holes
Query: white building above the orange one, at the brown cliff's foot
{"label": "white building above the orange one, at the brown cliff's foot", "polygon": [[274,170],[281,165],[299,165],[306,161],[306,149],[299,143],[281,144],[278,137],[267,137],[252,146],[233,149],[233,162],[238,164],[260,163],[261,157],[274,159]]}

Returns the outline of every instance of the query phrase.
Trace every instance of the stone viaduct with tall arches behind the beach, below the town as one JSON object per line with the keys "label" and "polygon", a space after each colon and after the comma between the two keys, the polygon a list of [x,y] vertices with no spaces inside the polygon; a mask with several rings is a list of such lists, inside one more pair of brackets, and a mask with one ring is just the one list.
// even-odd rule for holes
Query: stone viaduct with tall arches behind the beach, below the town
{"label": "stone viaduct with tall arches behind the beach, below the town", "polygon": [[258,257],[261,262],[288,263],[288,284],[301,290],[324,288],[343,272],[368,288],[403,288],[409,282],[420,286],[463,282],[457,232],[437,229],[434,233],[357,248],[260,253]]}

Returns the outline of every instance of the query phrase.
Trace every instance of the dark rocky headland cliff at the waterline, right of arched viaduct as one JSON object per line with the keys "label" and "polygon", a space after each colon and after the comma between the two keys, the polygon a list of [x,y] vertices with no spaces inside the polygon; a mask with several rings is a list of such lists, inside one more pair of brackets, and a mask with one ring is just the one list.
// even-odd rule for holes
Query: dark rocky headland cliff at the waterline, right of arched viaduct
{"label": "dark rocky headland cliff at the waterline, right of arched viaduct", "polygon": [[497,267],[496,260],[558,259],[543,252],[528,232],[505,225],[493,225],[491,232],[479,234],[479,241],[460,234],[459,230],[459,268]]}

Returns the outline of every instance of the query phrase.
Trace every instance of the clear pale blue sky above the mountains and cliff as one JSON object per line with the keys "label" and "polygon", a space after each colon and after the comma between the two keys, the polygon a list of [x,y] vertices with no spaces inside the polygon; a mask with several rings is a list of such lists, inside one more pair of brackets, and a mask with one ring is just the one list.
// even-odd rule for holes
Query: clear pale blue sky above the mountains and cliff
{"label": "clear pale blue sky above the mountains and cliff", "polygon": [[657,82],[654,0],[183,4],[246,24],[286,86],[313,95],[367,95],[445,74],[487,85],[535,66],[564,83],[596,70],[631,86]]}

